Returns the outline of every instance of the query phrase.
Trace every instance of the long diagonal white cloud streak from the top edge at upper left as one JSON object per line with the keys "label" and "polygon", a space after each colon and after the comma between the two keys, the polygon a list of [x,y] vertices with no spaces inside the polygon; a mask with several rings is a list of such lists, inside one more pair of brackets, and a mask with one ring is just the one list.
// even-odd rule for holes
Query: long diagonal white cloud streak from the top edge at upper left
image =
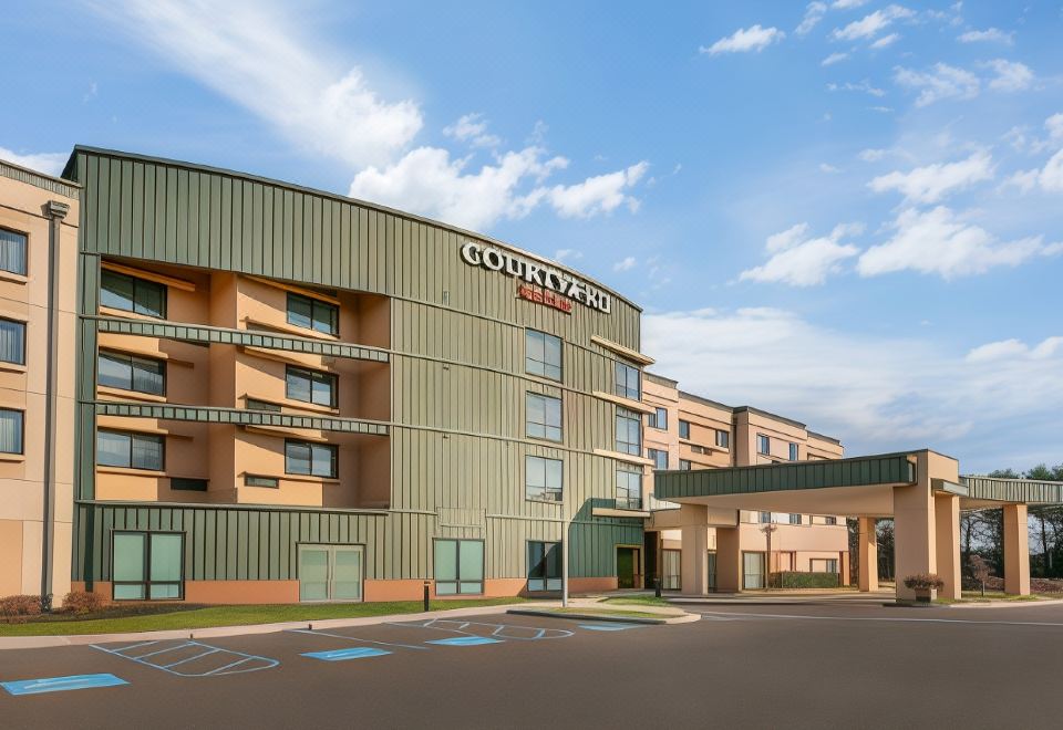
{"label": "long diagonal white cloud streak from the top edge at upper left", "polygon": [[359,67],[300,38],[275,3],[123,0],[97,6],[130,38],[269,122],[300,147],[355,166],[383,164],[421,129],[419,105],[373,90]]}

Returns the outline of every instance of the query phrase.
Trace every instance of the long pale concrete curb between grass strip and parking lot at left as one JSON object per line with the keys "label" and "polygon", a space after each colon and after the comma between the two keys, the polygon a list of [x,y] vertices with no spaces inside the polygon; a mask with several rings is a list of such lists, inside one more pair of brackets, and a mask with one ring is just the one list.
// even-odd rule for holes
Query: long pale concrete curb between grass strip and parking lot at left
{"label": "long pale concrete curb between grass strip and parking lot at left", "polygon": [[162,632],[131,632],[124,634],[72,634],[65,636],[2,636],[0,651],[7,649],[43,649],[58,646],[82,646],[85,644],[111,644],[117,642],[161,642],[165,639],[200,639],[224,636],[250,636],[255,634],[276,634],[296,629],[343,628],[347,626],[373,626],[398,620],[424,620],[427,618],[455,618],[462,616],[484,616],[506,612],[523,604],[499,604],[497,606],[476,606],[472,608],[450,608],[419,614],[389,614],[385,616],[360,616],[357,618],[323,618],[321,620],[291,620],[277,624],[246,624],[244,626],[210,626],[204,628],[179,628]]}

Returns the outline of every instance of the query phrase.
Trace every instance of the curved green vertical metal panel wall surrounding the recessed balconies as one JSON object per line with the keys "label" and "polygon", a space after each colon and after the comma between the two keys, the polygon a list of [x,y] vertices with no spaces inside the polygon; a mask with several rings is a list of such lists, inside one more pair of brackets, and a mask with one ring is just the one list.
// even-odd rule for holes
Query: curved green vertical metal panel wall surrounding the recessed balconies
{"label": "curved green vertical metal panel wall surrounding the recessed balconies", "polygon": [[[613,355],[599,335],[639,348],[639,310],[619,296],[603,314],[566,314],[518,299],[514,279],[467,265],[475,234],[398,211],[247,175],[78,148],[64,173],[84,186],[81,313],[97,311],[101,257],[172,264],[391,296],[391,509],[113,505],[93,502],[96,324],[82,319],[75,580],[107,580],[115,528],[182,530],[190,578],[295,577],[303,542],[367,545],[368,577],[432,576],[436,536],[486,540],[488,577],[523,577],[525,542],[559,540],[572,519],[574,576],[615,575],[617,544],[641,543],[641,521],[595,519],[615,496]],[[525,327],[564,341],[564,382],[526,376]],[[565,441],[524,436],[526,392],[561,396]],[[565,461],[565,503],[525,500],[526,455]]]}

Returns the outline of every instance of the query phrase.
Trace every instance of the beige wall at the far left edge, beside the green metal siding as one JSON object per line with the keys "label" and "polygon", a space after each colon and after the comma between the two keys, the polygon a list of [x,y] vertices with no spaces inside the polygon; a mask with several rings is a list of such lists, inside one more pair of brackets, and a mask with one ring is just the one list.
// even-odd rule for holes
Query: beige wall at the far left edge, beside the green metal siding
{"label": "beige wall at the far left edge, beside the green metal siding", "polygon": [[[61,191],[60,191],[61,190]],[[25,324],[25,365],[0,363],[0,408],[23,411],[23,452],[0,453],[0,596],[40,594],[45,534],[52,546],[51,593],[70,590],[76,324],[78,198],[70,184],[0,161],[0,228],[27,237],[27,275],[0,272],[0,317]],[[54,497],[44,524],[50,202],[69,206],[58,240],[53,393]]]}

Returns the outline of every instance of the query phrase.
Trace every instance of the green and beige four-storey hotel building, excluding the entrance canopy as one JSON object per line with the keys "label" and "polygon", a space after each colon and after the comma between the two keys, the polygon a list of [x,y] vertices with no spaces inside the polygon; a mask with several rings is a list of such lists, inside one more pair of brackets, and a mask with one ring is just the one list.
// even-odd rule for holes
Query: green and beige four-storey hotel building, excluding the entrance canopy
{"label": "green and beige four-storey hotel building, excluding the entrance canopy", "polygon": [[[653,469],[842,453],[643,373],[637,305],[476,233],[89,147],[0,186],[0,594],[537,595],[563,541],[574,592],[678,590],[727,531],[756,587],[761,514],[688,546]],[[847,573],[843,524],[784,517],[772,571]]]}

